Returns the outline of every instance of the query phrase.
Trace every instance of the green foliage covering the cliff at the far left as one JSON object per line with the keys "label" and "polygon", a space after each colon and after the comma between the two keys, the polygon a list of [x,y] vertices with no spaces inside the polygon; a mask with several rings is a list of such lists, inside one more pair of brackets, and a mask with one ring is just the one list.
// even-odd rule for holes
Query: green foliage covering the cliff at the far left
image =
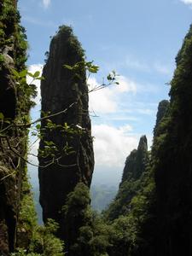
{"label": "green foliage covering the cliff at the far left", "polygon": [[[35,86],[26,83],[26,49],[25,29],[20,26],[16,1],[0,1],[1,255],[9,255],[15,247],[21,247],[17,255],[26,255],[37,229],[40,229],[26,170],[26,124],[30,120],[29,110],[34,105],[32,97],[36,96]],[[49,240],[53,241],[53,236]],[[56,255],[56,250],[55,246],[55,251],[48,254]]]}

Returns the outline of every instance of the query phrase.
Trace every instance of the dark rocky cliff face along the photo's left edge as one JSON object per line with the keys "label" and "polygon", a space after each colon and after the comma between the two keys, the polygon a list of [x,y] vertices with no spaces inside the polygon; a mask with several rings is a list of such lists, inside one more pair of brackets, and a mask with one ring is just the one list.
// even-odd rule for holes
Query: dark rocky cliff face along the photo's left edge
{"label": "dark rocky cliff face along the photo's left edge", "polygon": [[[26,177],[27,130],[22,123],[31,106],[30,96],[16,83],[12,69],[25,69],[26,36],[20,26],[16,1],[0,1],[0,254],[8,255],[19,245],[20,205],[23,198],[23,178]],[[24,78],[23,78],[24,79]],[[25,84],[26,86],[26,84]],[[9,121],[9,123],[7,123]],[[14,149],[13,149],[14,148]],[[17,154],[15,154],[15,152]],[[19,156],[20,155],[20,156]],[[27,232],[25,230],[25,236]],[[21,233],[20,233],[21,234]]]}

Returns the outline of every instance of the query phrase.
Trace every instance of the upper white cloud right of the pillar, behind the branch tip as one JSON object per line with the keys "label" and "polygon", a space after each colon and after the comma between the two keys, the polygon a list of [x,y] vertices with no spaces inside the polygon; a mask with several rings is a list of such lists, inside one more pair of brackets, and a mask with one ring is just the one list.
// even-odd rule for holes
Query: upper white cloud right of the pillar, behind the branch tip
{"label": "upper white cloud right of the pillar, behind the branch tip", "polygon": [[[137,84],[131,79],[120,76],[118,81],[119,85],[110,85],[107,88],[90,93],[90,112],[115,113],[118,111],[122,93],[135,94],[137,92]],[[90,90],[99,85],[95,78],[90,78],[88,84]]]}

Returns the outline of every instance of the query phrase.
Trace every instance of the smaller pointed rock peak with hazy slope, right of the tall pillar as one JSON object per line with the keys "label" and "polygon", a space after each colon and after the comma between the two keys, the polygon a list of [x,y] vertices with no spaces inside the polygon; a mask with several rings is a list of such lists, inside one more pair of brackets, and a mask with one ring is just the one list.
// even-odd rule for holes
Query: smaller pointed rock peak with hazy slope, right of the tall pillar
{"label": "smaller pointed rock peak with hazy slope, right of the tall pillar", "polygon": [[140,138],[138,148],[132,150],[125,161],[118,194],[106,211],[106,216],[109,220],[129,212],[131,199],[137,195],[138,190],[141,188],[142,176],[148,166],[148,160],[147,137],[143,136]]}

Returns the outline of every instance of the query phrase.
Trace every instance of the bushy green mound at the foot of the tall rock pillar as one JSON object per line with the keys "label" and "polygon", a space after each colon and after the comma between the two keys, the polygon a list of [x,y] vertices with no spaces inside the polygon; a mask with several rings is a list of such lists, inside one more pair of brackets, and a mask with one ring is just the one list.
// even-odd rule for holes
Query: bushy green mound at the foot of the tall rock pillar
{"label": "bushy green mound at the foot of the tall rock pillar", "polygon": [[67,196],[63,212],[69,255],[108,255],[108,226],[91,211],[89,188],[84,183],[78,183]]}

